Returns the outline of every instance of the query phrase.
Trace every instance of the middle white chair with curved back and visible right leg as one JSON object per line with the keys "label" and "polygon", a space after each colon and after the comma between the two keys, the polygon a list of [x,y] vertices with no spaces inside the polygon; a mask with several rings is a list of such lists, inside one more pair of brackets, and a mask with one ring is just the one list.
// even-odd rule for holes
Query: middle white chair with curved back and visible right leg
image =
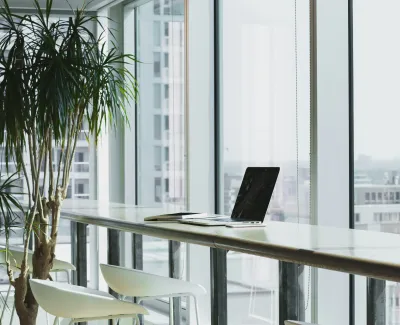
{"label": "middle white chair with curved back and visible right leg", "polygon": [[120,266],[100,264],[100,269],[112,290],[125,297],[136,297],[138,303],[156,298],[192,297],[196,322],[200,325],[197,297],[206,294],[202,286]]}

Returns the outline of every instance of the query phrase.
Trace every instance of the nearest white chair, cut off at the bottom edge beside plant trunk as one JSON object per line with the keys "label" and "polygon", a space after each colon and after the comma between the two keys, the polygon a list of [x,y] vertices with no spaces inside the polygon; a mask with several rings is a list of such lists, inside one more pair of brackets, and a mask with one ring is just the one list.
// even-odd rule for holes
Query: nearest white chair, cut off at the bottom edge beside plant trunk
{"label": "nearest white chair, cut off at the bottom edge beside plant trunk", "polygon": [[115,299],[112,295],[93,289],[66,283],[46,280],[30,280],[32,293],[47,313],[56,318],[71,319],[70,325],[111,319],[115,323],[119,318],[135,318],[147,315],[148,311],[141,305]]}

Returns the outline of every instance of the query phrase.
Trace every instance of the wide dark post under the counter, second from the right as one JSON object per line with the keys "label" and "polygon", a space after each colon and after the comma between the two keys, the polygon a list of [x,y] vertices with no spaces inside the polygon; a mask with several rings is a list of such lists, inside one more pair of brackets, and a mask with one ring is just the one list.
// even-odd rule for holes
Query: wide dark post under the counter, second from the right
{"label": "wide dark post under the counter, second from the right", "polygon": [[304,321],[304,265],[279,262],[279,325],[285,320]]}

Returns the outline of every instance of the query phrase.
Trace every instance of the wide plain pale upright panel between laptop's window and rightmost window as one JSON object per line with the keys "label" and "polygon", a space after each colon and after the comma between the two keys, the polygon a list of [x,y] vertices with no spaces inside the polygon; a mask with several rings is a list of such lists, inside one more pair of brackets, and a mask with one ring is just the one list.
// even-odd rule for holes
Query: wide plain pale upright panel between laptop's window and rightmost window
{"label": "wide plain pale upright panel between laptop's window and rightmost window", "polygon": [[[352,204],[349,202],[348,1],[318,1],[314,26],[314,222],[348,228],[349,204]],[[318,269],[314,283],[318,323],[348,324],[349,276]]]}

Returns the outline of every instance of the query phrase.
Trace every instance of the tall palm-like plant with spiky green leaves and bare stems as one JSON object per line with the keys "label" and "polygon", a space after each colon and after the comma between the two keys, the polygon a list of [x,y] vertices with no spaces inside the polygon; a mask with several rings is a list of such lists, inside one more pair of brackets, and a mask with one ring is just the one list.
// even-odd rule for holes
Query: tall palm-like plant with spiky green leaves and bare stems
{"label": "tall palm-like plant with spiky green leaves and bare stems", "polygon": [[[135,58],[107,50],[87,27],[101,24],[85,7],[52,22],[52,0],[44,10],[34,0],[35,13],[24,16],[0,1],[0,145],[25,179],[29,201],[21,272],[15,279],[10,273],[10,282],[20,323],[31,325],[38,305],[28,282],[28,242],[33,237],[29,273],[47,279],[82,124],[88,122],[87,138],[97,142],[106,125],[127,122],[125,103],[136,99],[137,84],[126,65]],[[57,165],[54,146],[61,149]]]}

